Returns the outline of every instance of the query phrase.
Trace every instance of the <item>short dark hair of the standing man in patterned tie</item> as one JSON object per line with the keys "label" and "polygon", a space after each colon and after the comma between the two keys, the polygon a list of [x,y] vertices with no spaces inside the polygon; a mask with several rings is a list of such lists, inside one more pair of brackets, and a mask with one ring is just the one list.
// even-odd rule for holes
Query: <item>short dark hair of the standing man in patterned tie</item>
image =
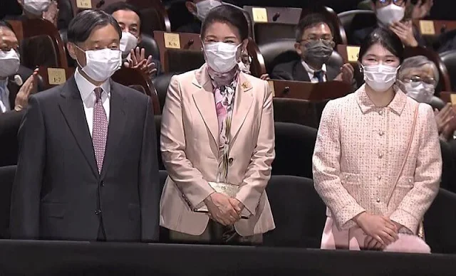
{"label": "short dark hair of the standing man in patterned tie", "polygon": [[104,11],[88,9],[77,14],[68,26],[68,42],[81,43],[87,40],[90,33],[98,26],[112,25],[122,37],[122,30],[115,18]]}

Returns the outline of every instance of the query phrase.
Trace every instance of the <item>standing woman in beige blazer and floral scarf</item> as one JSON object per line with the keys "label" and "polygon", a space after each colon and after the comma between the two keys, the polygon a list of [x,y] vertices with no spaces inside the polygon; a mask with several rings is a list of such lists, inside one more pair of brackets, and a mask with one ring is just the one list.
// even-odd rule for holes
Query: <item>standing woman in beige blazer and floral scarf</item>
{"label": "standing woman in beige blazer and floral scarf", "polygon": [[160,225],[172,240],[261,243],[275,227],[264,191],[275,156],[271,90],[237,65],[248,42],[242,11],[212,9],[201,38],[206,63],[172,78],[163,109]]}

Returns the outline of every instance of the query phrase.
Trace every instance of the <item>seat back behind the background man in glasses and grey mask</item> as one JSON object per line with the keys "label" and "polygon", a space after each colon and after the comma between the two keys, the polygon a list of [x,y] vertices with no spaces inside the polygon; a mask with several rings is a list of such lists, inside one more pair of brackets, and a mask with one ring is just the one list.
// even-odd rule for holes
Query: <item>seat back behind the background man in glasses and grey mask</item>
{"label": "seat back behind the background man in glasses and grey mask", "polygon": [[[299,59],[299,55],[294,48],[294,39],[282,39],[259,46],[259,51],[264,57],[266,71],[271,73],[274,67],[280,63],[288,63]],[[328,65],[340,67],[343,65],[343,58],[336,51],[333,51]]]}

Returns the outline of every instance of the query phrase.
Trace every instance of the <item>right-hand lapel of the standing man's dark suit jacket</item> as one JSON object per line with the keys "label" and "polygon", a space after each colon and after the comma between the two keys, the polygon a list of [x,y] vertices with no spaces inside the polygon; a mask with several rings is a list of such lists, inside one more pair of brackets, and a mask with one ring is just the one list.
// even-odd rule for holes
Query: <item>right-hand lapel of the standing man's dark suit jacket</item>
{"label": "right-hand lapel of the standing man's dark suit jacket", "polygon": [[108,171],[108,166],[114,158],[115,149],[119,146],[124,134],[127,114],[125,112],[125,91],[121,87],[110,81],[110,115],[108,125],[108,137],[106,139],[105,158],[103,159],[103,169],[101,169],[101,179]]}

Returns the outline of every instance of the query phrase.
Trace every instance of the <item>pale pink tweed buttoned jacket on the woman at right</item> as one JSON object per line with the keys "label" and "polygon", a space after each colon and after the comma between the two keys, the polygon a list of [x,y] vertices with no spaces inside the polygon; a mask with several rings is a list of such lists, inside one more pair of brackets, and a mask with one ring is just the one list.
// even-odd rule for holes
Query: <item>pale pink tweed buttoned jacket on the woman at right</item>
{"label": "pale pink tweed buttoned jacket on the woman at right", "polygon": [[394,186],[416,105],[398,90],[387,107],[375,107],[364,86],[326,105],[314,150],[314,184],[339,230],[356,225],[352,218],[367,211],[417,232],[439,189],[442,156],[432,107],[420,104],[410,153]]}

